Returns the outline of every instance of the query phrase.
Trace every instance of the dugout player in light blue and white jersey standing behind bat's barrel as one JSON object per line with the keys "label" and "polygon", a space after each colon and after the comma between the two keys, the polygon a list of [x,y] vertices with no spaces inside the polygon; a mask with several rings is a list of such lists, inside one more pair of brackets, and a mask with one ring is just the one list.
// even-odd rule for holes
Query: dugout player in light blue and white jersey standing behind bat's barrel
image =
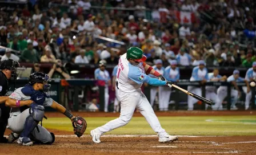
{"label": "dugout player in light blue and white jersey standing behind bat's barrel", "polygon": [[[206,83],[207,80],[208,80],[208,70],[207,70],[207,68],[205,68],[205,61],[199,60],[199,66],[193,68],[190,81],[201,81],[201,83]],[[190,91],[199,96],[202,96],[201,87],[189,86],[189,87],[187,87],[187,91]],[[187,98],[187,104],[188,104],[189,111],[193,111],[195,102],[197,102],[197,99],[195,99],[194,97],[189,96]]]}

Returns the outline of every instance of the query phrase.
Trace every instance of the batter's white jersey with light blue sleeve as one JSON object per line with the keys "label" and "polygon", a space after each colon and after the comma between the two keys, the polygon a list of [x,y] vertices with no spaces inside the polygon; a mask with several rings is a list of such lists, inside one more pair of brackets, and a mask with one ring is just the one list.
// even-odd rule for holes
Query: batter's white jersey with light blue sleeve
{"label": "batter's white jersey with light blue sleeve", "polygon": [[138,74],[142,72],[145,74],[145,70],[143,67],[143,63],[139,63],[137,66],[134,66],[128,62],[126,59],[126,54],[123,54],[118,63],[118,70],[117,70],[117,81],[118,81],[118,88],[123,92],[134,92],[137,89],[140,89],[142,86],[141,80],[144,79],[143,76],[140,76],[138,80],[130,79],[129,75],[131,74]]}

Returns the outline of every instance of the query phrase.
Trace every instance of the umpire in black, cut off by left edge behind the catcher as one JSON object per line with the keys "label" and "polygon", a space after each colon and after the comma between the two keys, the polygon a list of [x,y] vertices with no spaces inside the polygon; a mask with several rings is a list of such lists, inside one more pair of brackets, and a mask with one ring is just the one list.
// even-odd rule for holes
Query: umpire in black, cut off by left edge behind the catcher
{"label": "umpire in black, cut off by left edge behind the catcher", "polygon": [[7,143],[8,141],[3,137],[10,113],[10,108],[5,107],[5,101],[8,99],[8,96],[5,96],[5,94],[10,89],[10,80],[15,82],[17,79],[19,74],[17,67],[19,67],[19,63],[13,59],[3,60],[0,64],[0,143]]}

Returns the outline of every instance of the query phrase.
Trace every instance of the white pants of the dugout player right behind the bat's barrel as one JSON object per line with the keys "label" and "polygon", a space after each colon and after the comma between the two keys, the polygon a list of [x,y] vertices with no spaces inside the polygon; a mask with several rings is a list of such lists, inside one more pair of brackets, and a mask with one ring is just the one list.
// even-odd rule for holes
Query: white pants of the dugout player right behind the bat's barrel
{"label": "white pants of the dugout player right behind the bat's barrel", "polygon": [[[188,86],[187,87],[187,91],[195,93],[196,95],[202,96],[202,89],[201,87],[195,87],[195,86]],[[194,109],[194,103],[196,103],[198,100],[195,99],[194,97],[188,95],[187,97],[187,107],[188,107],[188,111],[193,111]]]}

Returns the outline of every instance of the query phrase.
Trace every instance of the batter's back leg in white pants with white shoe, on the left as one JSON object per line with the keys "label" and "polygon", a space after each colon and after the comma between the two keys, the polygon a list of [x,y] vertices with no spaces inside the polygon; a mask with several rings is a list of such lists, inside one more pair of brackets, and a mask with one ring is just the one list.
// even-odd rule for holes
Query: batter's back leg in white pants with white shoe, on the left
{"label": "batter's back leg in white pants with white shoe, on the left", "polygon": [[[120,116],[115,120],[109,121],[109,123],[106,123],[102,127],[98,127],[94,130],[91,130],[90,134],[91,134],[91,137],[93,137],[93,141],[95,143],[101,142],[99,140],[99,137],[101,136],[101,134],[109,132],[110,130],[113,130],[119,127],[123,127],[124,125],[129,123],[129,121],[131,120],[131,117],[133,117],[135,107],[139,102],[139,99],[141,98],[141,91],[138,90],[135,92],[126,93],[118,90],[118,96],[121,101]],[[149,106],[151,107],[150,104]]]}

